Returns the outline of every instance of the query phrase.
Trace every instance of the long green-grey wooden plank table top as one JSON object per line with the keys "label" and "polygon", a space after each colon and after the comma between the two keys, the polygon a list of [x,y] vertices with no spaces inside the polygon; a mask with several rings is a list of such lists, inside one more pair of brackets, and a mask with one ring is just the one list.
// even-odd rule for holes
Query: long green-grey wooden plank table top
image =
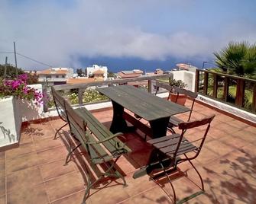
{"label": "long green-grey wooden plank table top", "polygon": [[147,121],[190,111],[188,107],[175,104],[131,85],[97,88],[97,91]]}

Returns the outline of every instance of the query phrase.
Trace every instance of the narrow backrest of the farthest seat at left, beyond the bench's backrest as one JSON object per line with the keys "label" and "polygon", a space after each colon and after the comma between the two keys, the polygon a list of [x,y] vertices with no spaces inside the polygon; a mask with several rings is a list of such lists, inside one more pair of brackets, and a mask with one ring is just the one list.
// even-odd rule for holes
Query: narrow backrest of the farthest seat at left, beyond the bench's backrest
{"label": "narrow backrest of the farthest seat at left, beyond the bench's backrest", "polygon": [[61,97],[61,95],[51,87],[51,94],[53,95],[54,104],[57,110],[58,115],[64,121],[66,121],[66,113],[65,113],[65,99]]}

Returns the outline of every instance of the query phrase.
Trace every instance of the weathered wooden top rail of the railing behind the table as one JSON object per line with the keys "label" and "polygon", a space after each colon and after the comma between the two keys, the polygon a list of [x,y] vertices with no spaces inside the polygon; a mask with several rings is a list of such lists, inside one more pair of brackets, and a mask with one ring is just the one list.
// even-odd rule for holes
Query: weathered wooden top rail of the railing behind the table
{"label": "weathered wooden top rail of the railing behind the table", "polygon": [[166,74],[166,75],[141,76],[138,78],[115,79],[115,80],[109,80],[109,81],[95,81],[95,82],[90,82],[90,83],[86,83],[86,84],[84,84],[84,83],[83,84],[61,84],[61,85],[55,85],[54,89],[57,91],[70,90],[70,89],[75,89],[75,88],[78,88],[80,90],[85,90],[86,88],[89,88],[92,86],[125,84],[127,82],[152,80],[152,79],[163,78],[163,77],[172,78],[173,73]]}

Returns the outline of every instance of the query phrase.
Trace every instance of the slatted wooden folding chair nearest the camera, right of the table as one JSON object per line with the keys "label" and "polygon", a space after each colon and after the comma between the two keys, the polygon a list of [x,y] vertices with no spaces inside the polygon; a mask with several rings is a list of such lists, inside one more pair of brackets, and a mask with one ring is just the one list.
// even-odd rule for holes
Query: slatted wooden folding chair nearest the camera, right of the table
{"label": "slatted wooden folding chair nearest the camera, right of the table", "polygon": [[[164,175],[167,177],[167,180],[169,181],[170,186],[172,187],[173,197],[175,202],[176,202],[176,194],[168,173],[173,173],[173,171],[176,171],[177,165],[184,161],[189,161],[192,167],[195,169],[196,173],[199,175],[199,178],[201,180],[202,190],[204,191],[203,179],[199,174],[199,171],[196,170],[196,167],[193,165],[191,161],[198,157],[203,147],[203,143],[206,140],[206,135],[209,131],[210,123],[212,122],[214,116],[215,115],[208,116],[203,120],[180,123],[178,127],[179,129],[182,130],[181,134],[167,135],[165,137],[160,137],[158,139],[151,139],[147,141],[148,143],[153,145],[154,148],[157,149],[158,164],[157,165],[154,164],[154,165],[155,167],[158,168],[158,171],[159,170],[164,171]],[[203,133],[203,137],[199,139],[194,139],[193,141],[189,141],[184,137],[184,134],[187,129],[196,128],[198,126],[206,126],[206,130]],[[199,145],[196,145],[196,144],[199,144]],[[147,173],[150,174],[153,180],[156,180],[156,178],[159,177],[160,175],[160,174],[157,174],[157,176],[154,176],[154,174],[152,174],[154,173],[155,167],[151,167],[151,166],[147,167]],[[200,193],[203,193],[203,191],[196,193],[193,196],[199,195]],[[183,200],[187,200],[191,198],[192,196],[187,197]]]}

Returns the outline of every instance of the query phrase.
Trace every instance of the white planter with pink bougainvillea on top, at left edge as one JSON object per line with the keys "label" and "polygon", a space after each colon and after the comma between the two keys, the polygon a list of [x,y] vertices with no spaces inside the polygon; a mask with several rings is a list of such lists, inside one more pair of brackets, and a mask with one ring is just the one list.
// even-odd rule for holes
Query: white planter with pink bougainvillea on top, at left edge
{"label": "white planter with pink bougainvillea on top, at left edge", "polygon": [[41,104],[43,94],[28,84],[28,75],[9,80],[0,78],[0,148],[18,144],[21,135],[22,104]]}

